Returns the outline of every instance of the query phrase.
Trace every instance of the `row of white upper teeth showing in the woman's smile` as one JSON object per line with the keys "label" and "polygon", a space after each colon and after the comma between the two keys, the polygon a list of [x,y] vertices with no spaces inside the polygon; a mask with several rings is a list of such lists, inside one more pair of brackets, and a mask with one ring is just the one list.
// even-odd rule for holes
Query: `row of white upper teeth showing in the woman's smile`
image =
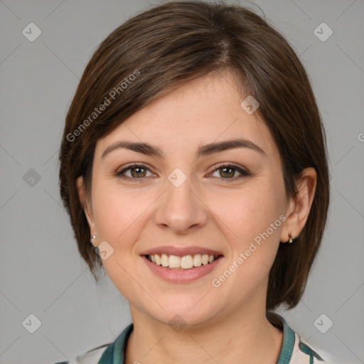
{"label": "row of white upper teeth showing in the woman's smile", "polygon": [[191,269],[193,267],[200,267],[201,264],[206,265],[212,263],[215,260],[213,255],[208,254],[185,255],[184,257],[153,254],[147,257],[151,262],[171,269]]}

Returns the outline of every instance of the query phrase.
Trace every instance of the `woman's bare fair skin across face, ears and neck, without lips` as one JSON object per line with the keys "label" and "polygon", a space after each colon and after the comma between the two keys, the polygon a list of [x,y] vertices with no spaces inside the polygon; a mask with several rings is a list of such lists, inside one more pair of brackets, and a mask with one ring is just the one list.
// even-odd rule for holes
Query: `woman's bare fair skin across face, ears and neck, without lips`
{"label": "woman's bare fair skin across face, ears and neck, without lips", "polygon": [[[240,107],[245,97],[229,72],[187,82],[97,141],[90,199],[82,177],[77,180],[90,235],[97,235],[94,245],[106,240],[114,248],[103,265],[129,301],[134,331],[127,364],[277,363],[283,335],[265,316],[269,269],[280,241],[304,228],[316,171],[305,169],[296,202],[287,198],[277,145],[257,112],[247,114]],[[195,156],[204,144],[235,138],[252,141],[265,154],[237,148]],[[102,159],[102,152],[119,140],[154,144],[164,157],[115,149]],[[127,180],[115,176],[133,162],[147,169],[125,171]],[[224,170],[223,163],[240,166],[250,176]],[[168,180],[175,168],[187,178],[179,187]],[[282,214],[284,223],[220,287],[213,287],[212,279]],[[161,245],[209,247],[224,257],[213,272],[193,282],[165,282],[140,256]],[[176,314],[186,323],[178,332],[168,324]]]}

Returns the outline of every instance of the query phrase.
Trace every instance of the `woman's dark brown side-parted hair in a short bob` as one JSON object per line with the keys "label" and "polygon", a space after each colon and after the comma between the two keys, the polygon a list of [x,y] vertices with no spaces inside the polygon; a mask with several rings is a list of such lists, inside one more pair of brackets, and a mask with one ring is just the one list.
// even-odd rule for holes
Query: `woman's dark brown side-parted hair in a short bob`
{"label": "woman's dark brown side-parted hair in a short bob", "polygon": [[[306,167],[317,173],[308,220],[294,244],[280,244],[269,272],[267,310],[299,303],[319,250],[329,204],[326,136],[309,77],[284,37],[254,11],[204,1],[170,1],[144,11],[102,41],[87,64],[65,119],[60,196],[78,250],[94,278],[102,260],[77,193],[90,200],[95,144],[134,112],[183,82],[230,70],[242,97],[259,102],[279,149],[287,198]],[[244,100],[242,98],[242,100]],[[148,125],[146,125],[148,127]],[[105,273],[105,271],[104,271]]]}

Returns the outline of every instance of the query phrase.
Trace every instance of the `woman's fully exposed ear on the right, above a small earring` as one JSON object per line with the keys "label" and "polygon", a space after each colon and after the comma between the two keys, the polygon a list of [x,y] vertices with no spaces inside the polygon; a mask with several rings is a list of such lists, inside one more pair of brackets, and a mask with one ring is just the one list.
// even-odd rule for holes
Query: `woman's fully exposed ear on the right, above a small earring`
{"label": "woman's fully exposed ear on the right, above a small earring", "polygon": [[302,178],[296,183],[296,199],[291,198],[288,203],[286,220],[281,230],[281,242],[287,242],[289,234],[291,234],[292,239],[295,239],[304,228],[314,200],[316,181],[315,168],[305,168],[302,171]]}

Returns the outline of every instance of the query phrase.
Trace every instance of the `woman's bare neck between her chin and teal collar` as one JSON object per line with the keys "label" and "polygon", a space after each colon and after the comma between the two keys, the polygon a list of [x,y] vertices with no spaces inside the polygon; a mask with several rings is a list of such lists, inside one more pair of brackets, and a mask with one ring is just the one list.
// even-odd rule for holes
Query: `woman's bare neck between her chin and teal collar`
{"label": "woman's bare neck between her chin and teal collar", "polygon": [[266,318],[265,307],[242,309],[200,326],[174,331],[131,307],[134,322],[125,364],[277,363],[283,333]]}

